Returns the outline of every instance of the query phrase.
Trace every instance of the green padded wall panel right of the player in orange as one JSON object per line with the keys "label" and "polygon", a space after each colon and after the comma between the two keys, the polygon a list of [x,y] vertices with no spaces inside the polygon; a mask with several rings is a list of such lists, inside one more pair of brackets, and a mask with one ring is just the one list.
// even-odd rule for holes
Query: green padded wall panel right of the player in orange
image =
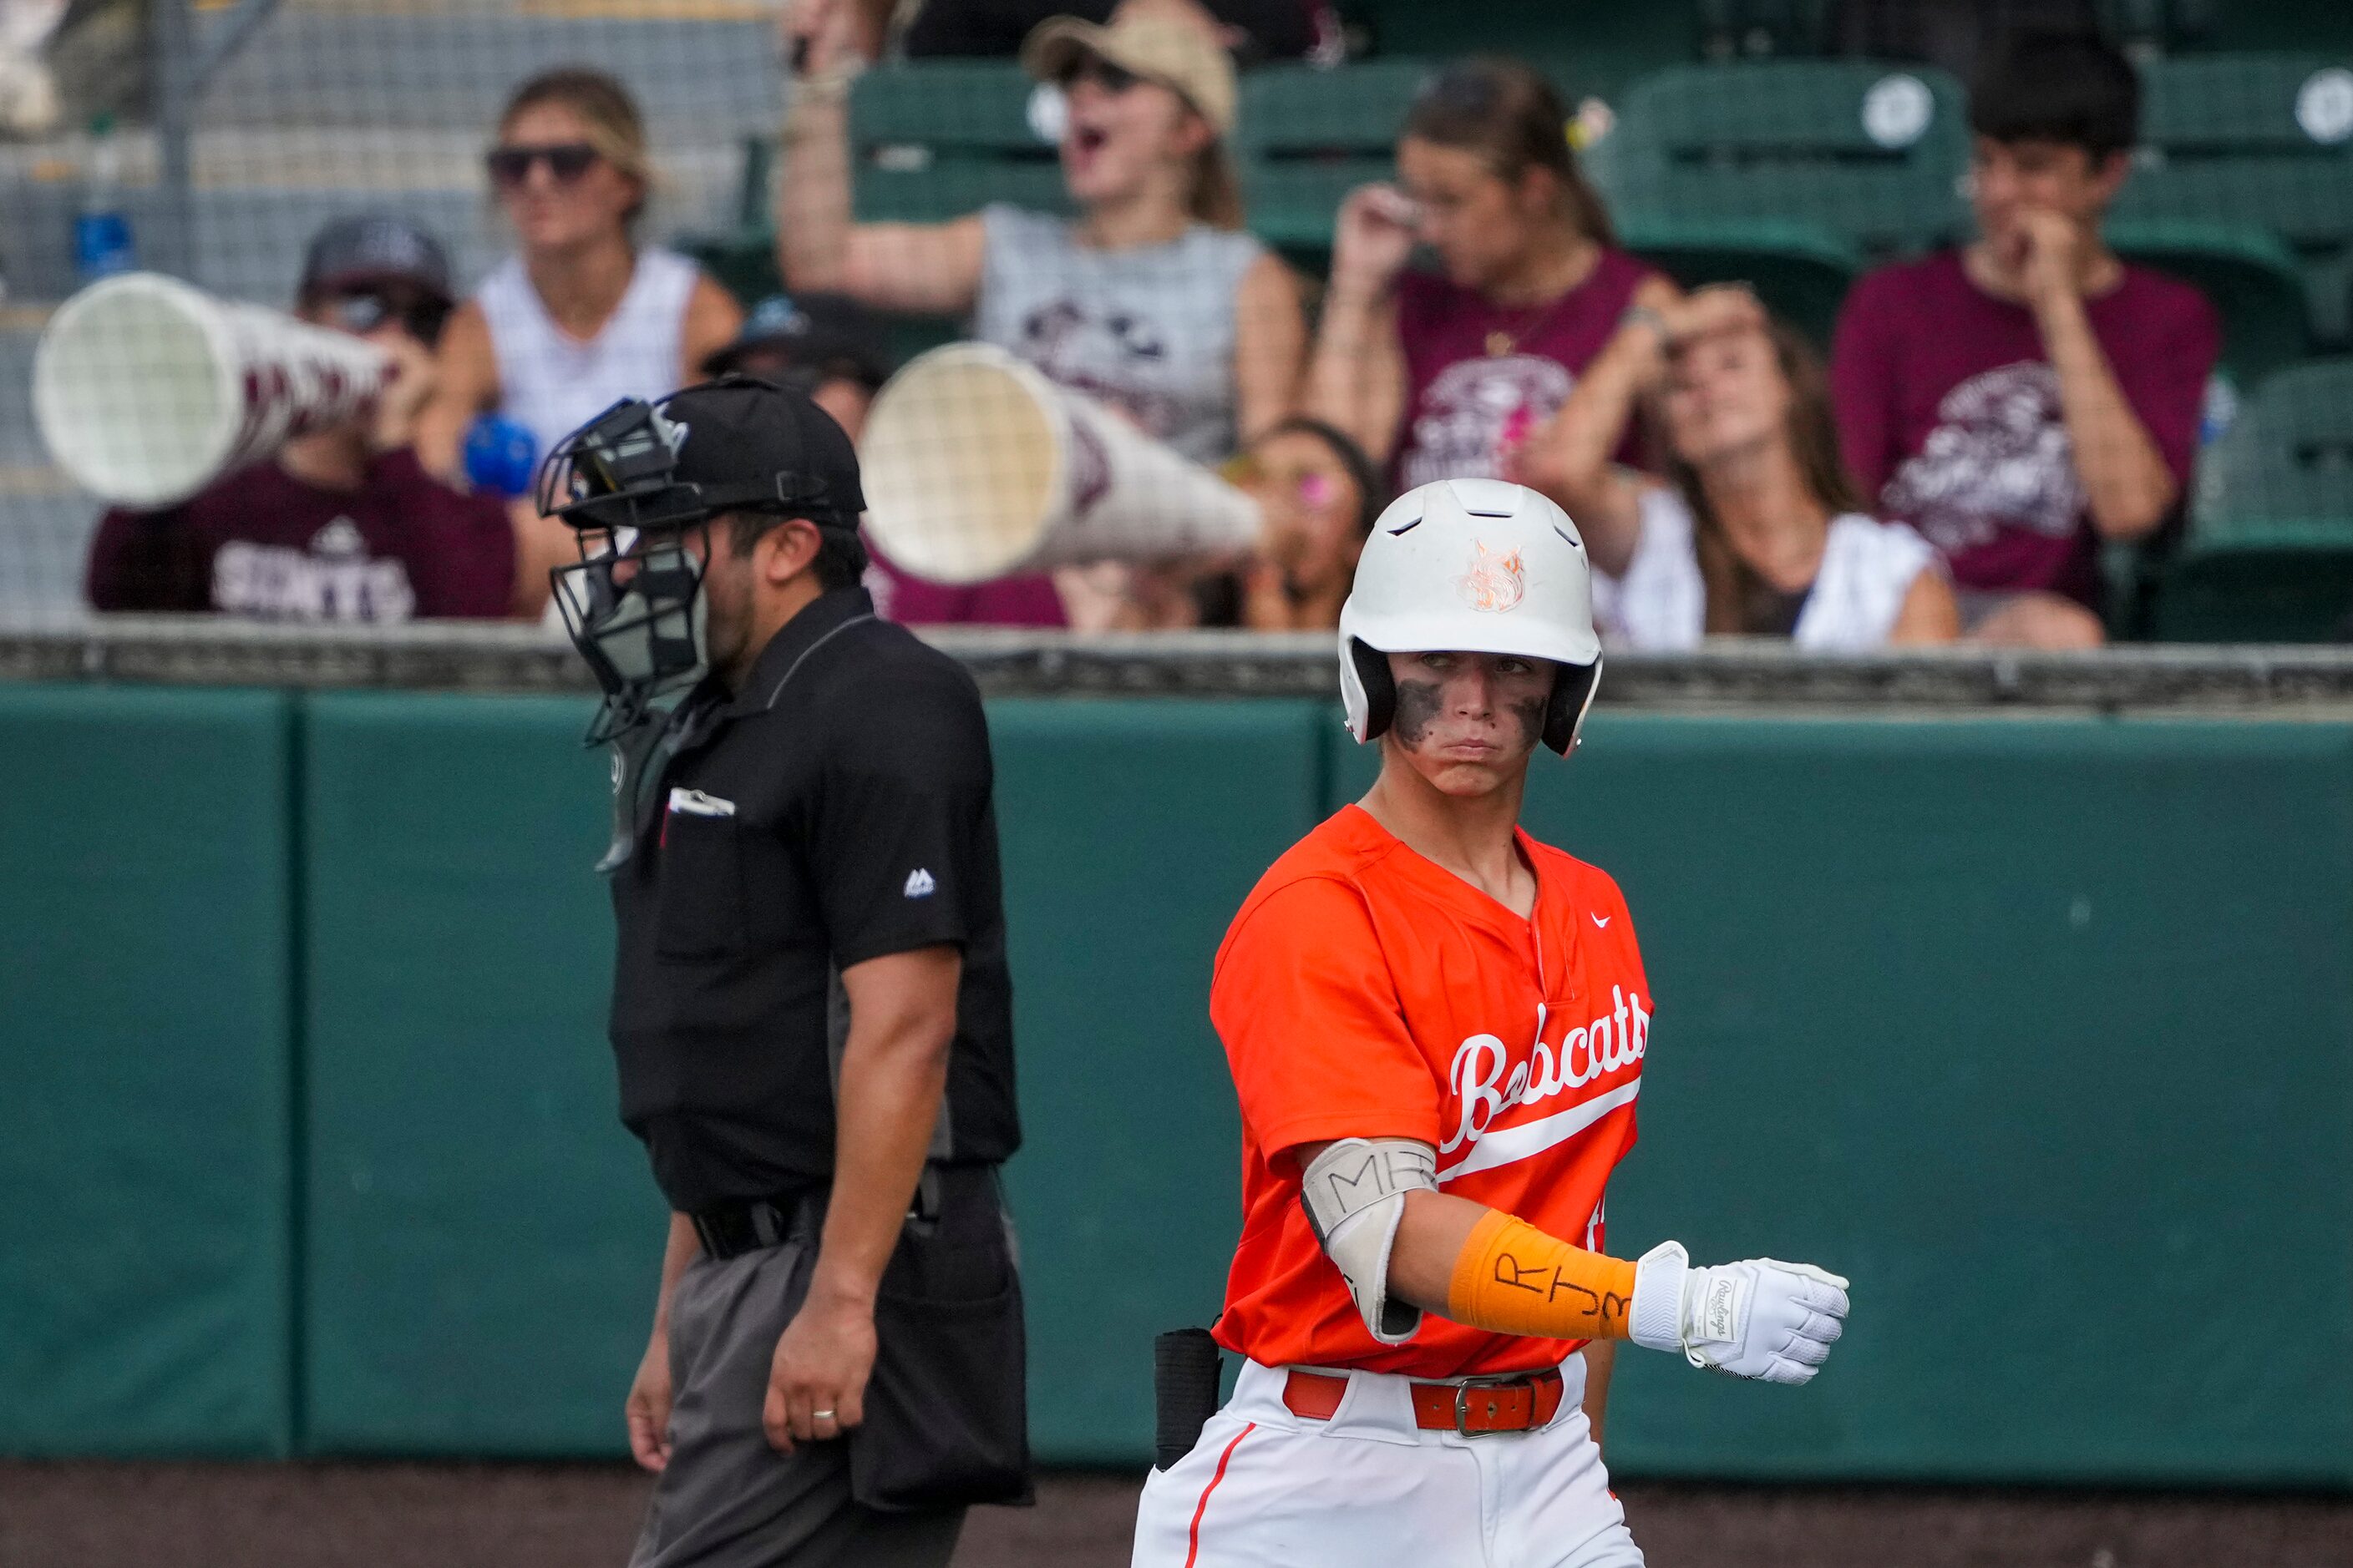
{"label": "green padded wall panel right of the player in orange", "polygon": [[1657,997],[1612,1251],[1854,1279],[1802,1394],[1621,1354],[1619,1467],[2353,1486],[2353,731],[1602,712],[1527,823]]}

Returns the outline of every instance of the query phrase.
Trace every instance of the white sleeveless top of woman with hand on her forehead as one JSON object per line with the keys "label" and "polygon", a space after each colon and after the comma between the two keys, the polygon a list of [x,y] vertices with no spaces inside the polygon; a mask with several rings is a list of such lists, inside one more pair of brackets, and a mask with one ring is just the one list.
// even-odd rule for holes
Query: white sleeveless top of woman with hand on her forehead
{"label": "white sleeveless top of woman with hand on her forehead", "polygon": [[[1692,545],[1692,512],[1675,491],[1645,487],[1640,520],[1626,576],[1593,578],[1593,621],[1621,649],[1694,649],[1706,635],[1708,590]],[[1913,581],[1934,567],[1937,550],[1901,522],[1861,512],[1833,517],[1791,642],[1821,654],[1887,646]]]}

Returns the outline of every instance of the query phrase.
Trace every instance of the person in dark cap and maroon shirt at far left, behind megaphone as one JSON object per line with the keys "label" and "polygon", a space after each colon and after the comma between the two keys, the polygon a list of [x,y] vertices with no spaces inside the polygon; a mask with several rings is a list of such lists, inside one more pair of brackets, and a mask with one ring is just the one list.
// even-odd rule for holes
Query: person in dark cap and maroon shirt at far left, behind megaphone
{"label": "person in dark cap and maroon shirt at far left, behind megaphone", "polygon": [[296,313],[381,346],[376,407],[287,442],[188,501],[113,510],[89,545],[92,609],[271,621],[506,616],[515,534],[492,496],[428,475],[409,447],[449,315],[440,244],[398,219],[344,219],[311,242]]}

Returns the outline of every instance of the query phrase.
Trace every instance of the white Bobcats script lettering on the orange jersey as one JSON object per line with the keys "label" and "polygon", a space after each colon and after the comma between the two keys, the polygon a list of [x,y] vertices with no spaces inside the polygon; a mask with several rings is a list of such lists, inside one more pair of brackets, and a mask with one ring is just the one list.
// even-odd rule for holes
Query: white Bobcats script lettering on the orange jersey
{"label": "white Bobcats script lettering on the orange jersey", "polygon": [[[1473,1171],[1494,1171],[1567,1143],[1642,1093],[1642,1056],[1649,1051],[1649,1009],[1624,985],[1609,987],[1612,1006],[1600,1018],[1567,1030],[1558,1044],[1544,1039],[1546,1011],[1537,1009],[1537,1044],[1527,1060],[1511,1063],[1511,1051],[1494,1034],[1473,1034],[1454,1051],[1447,1072],[1454,1131],[1438,1145],[1438,1180],[1449,1182]],[[1508,1070],[1506,1070],[1508,1067]],[[1586,1095],[1534,1121],[1499,1126],[1506,1112],[1539,1105],[1598,1084],[1635,1067],[1624,1081]]]}

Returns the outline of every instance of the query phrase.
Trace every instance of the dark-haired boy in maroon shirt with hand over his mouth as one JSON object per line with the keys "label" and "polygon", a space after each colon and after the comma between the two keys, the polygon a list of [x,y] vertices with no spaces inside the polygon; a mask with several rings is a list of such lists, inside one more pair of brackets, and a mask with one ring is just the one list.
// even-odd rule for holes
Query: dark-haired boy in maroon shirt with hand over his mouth
{"label": "dark-haired boy in maroon shirt with hand over his mouth", "polygon": [[2219,350],[2188,284],[2099,237],[2139,134],[2139,80],[2097,38],[2026,35],[1969,94],[1977,240],[1873,273],[1838,322],[1847,465],[1934,543],[1979,642],[2104,639],[2099,545],[2188,489]]}

